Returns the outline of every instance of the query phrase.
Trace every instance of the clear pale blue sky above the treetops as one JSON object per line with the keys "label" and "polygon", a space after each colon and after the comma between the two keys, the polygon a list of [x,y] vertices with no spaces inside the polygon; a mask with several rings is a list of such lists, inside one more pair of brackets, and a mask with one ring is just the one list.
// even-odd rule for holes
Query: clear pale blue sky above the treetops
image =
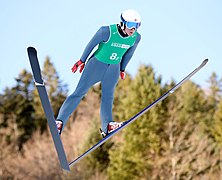
{"label": "clear pale blue sky above the treetops", "polygon": [[123,10],[142,17],[142,35],[127,72],[151,64],[163,82],[181,80],[205,58],[208,65],[192,80],[207,87],[212,72],[222,77],[220,0],[7,0],[0,1],[0,92],[31,70],[26,48],[38,50],[40,65],[51,58],[61,80],[74,90],[80,74],[71,72],[88,41],[102,25],[119,22]]}

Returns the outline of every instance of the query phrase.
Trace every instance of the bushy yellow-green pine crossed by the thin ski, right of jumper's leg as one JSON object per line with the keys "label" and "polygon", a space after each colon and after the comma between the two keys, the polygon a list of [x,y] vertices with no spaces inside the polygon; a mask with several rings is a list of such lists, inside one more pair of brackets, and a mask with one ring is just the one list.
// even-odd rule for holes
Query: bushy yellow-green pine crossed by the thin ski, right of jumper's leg
{"label": "bushy yellow-green pine crossed by the thin ski, right of jumper's leg", "polygon": [[[127,96],[121,100],[123,118],[129,119],[161,93],[161,78],[155,77],[151,66],[141,66],[130,84]],[[159,151],[161,103],[124,130],[124,141],[110,152],[110,179],[140,179],[149,174],[152,159]]]}

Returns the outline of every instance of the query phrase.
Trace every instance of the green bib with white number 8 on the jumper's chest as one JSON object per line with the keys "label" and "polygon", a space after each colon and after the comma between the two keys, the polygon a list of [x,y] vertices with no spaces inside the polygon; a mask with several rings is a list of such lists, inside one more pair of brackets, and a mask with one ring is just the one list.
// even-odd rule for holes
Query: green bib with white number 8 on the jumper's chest
{"label": "green bib with white number 8 on the jumper's chest", "polygon": [[107,64],[119,64],[126,51],[132,47],[136,41],[138,33],[132,36],[122,37],[117,29],[117,25],[110,25],[110,36],[107,42],[99,43],[94,56],[101,62]]}

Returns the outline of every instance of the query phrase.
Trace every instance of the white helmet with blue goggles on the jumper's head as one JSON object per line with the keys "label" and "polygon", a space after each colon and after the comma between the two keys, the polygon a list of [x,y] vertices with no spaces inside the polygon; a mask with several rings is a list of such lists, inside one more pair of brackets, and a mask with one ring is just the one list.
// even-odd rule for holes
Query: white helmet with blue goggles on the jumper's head
{"label": "white helmet with blue goggles on the jumper's head", "polygon": [[141,17],[140,14],[133,10],[128,9],[121,13],[120,16],[121,22],[128,28],[128,29],[138,29],[141,25]]}

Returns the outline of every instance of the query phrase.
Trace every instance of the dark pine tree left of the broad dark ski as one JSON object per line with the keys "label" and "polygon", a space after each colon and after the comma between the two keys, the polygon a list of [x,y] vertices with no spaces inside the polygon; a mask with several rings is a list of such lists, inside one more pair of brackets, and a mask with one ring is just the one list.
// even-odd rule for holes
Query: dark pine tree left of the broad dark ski
{"label": "dark pine tree left of the broad dark ski", "polygon": [[23,70],[16,78],[16,86],[5,90],[3,95],[3,114],[2,125],[8,129],[10,134],[7,136],[9,143],[14,143],[18,150],[30,139],[35,131],[33,118],[33,83],[32,75]]}

